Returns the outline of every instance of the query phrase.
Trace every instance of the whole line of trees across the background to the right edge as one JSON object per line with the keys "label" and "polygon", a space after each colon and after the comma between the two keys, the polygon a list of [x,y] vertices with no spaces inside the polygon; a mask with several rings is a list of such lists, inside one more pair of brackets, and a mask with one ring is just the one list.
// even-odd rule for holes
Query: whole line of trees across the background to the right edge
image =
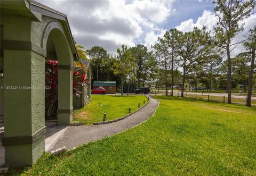
{"label": "whole line of trees across the background to the right edge", "polygon": [[[253,0],[217,0],[214,12],[218,23],[213,31],[194,28],[181,32],[170,29],[151,51],[144,45],[127,48],[122,45],[116,54],[107,54],[99,46],[88,49],[91,58],[93,80],[116,80],[135,87],[165,85],[165,95],[174,86],[181,86],[181,97],[185,84],[197,87],[201,83],[210,91],[213,88],[226,89],[228,103],[231,104],[231,90],[241,83],[247,91],[247,106],[251,106],[253,82],[255,81],[256,26],[234,42],[244,30],[242,21],[254,13],[256,2]],[[245,51],[231,58],[238,44]]]}

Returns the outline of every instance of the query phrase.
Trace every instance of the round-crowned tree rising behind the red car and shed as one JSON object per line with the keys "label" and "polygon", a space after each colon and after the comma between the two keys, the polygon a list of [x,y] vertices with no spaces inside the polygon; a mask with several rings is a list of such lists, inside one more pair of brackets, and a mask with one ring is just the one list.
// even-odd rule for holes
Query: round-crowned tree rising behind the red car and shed
{"label": "round-crowned tree rising behind the red car and shed", "polygon": [[99,66],[102,63],[102,60],[108,57],[107,51],[100,46],[93,46],[91,49],[87,50],[87,53],[91,57],[92,64],[95,64],[97,67],[97,76],[96,80],[99,78]]}

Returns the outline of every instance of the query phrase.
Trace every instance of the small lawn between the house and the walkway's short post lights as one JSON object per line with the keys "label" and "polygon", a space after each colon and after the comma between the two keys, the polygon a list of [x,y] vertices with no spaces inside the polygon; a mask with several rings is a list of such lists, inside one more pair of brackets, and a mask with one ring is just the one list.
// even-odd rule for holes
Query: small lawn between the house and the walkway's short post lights
{"label": "small lawn between the house and the walkway's short post lights", "polygon": [[145,96],[119,96],[119,95],[91,95],[91,102],[77,110],[73,116],[74,121],[85,122],[92,124],[93,122],[101,122],[103,113],[107,113],[106,120],[114,120],[122,118],[122,116],[138,109],[138,104],[143,105],[143,101],[147,103]]}

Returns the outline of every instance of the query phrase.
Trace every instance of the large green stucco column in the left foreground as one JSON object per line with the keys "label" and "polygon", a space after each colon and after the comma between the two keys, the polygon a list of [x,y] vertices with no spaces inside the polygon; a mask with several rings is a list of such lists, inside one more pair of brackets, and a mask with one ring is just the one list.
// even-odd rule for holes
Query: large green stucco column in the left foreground
{"label": "large green stucco column in the left foreground", "polygon": [[44,152],[45,61],[32,51],[30,20],[1,16],[2,21],[5,165],[22,167]]}

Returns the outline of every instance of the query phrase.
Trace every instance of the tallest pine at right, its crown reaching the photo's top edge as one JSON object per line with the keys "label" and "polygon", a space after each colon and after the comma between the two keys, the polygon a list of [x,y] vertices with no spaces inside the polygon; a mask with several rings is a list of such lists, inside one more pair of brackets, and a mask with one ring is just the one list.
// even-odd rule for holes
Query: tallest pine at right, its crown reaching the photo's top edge
{"label": "tallest pine at right, its crown reaching the photo's top edge", "polygon": [[231,104],[231,58],[230,52],[242,43],[231,43],[233,38],[243,31],[244,23],[239,24],[244,18],[250,16],[255,7],[254,0],[217,0],[213,3],[217,4],[214,7],[215,15],[218,16],[219,22],[215,31],[215,44],[227,52],[228,71],[227,71],[227,91],[228,103]]}

